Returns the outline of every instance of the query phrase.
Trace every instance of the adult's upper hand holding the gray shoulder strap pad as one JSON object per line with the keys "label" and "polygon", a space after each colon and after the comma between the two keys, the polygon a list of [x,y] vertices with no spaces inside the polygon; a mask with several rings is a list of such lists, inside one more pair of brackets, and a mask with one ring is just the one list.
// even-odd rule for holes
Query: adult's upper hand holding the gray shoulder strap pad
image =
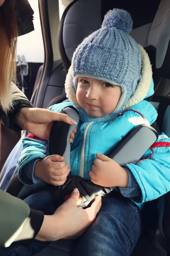
{"label": "adult's upper hand holding the gray shoulder strap pad", "polygon": [[15,123],[21,128],[47,140],[53,121],[62,121],[69,125],[77,123],[66,114],[56,113],[45,108],[21,108],[15,118]]}

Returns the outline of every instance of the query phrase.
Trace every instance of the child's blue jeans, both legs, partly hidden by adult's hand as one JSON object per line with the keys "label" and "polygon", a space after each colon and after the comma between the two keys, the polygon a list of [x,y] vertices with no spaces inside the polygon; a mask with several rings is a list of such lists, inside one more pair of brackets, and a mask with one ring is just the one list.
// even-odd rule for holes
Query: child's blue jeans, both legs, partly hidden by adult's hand
{"label": "child's blue jeans, both legs, partly hidden by adult's hand", "polygon": [[[24,201],[31,208],[43,210],[45,214],[53,214],[55,211],[53,198],[53,191],[45,190],[29,196]],[[102,198],[102,207],[96,220],[77,239],[77,247],[73,255],[128,256],[136,246],[141,230],[141,213],[138,207],[130,199],[113,192],[112,197]],[[0,255],[30,256],[43,250],[47,245],[48,242],[37,240],[34,240],[28,247],[11,244],[8,248],[0,248]]]}

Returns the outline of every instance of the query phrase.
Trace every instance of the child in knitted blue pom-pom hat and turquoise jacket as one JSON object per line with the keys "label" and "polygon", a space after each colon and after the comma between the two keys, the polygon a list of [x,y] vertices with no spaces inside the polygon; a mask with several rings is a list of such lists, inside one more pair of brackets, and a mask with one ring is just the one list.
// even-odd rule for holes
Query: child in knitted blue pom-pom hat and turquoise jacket
{"label": "child in knitted blue pom-pom hat and turquoise jacket", "polygon": [[[170,190],[170,139],[165,134],[137,163],[119,166],[107,157],[129,131],[142,123],[151,125],[157,118],[153,105],[144,100],[154,93],[152,69],[143,47],[129,35],[132,23],[124,10],[113,9],[105,15],[101,29],[74,52],[65,82],[71,103],[49,108],[60,112],[74,105],[79,111],[71,143],[71,175],[119,191],[102,198],[96,221],[80,237],[74,255],[130,255],[142,231],[144,202]],[[70,172],[68,165],[63,157],[48,155],[48,142],[28,135],[19,159],[20,180],[28,185],[42,180],[62,185]],[[52,214],[54,192],[51,186],[27,202],[40,210],[48,203],[46,214]]]}

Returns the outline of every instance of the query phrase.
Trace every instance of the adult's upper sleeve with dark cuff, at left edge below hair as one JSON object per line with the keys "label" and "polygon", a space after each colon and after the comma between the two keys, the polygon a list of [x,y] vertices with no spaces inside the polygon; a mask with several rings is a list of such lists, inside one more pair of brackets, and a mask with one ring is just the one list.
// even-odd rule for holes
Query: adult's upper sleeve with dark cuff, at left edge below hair
{"label": "adult's upper sleeve with dark cuff, at left edge below hair", "polygon": [[3,110],[0,108],[0,121],[3,123],[3,125],[11,130],[14,131],[21,131],[22,128],[19,127],[14,123],[14,118],[17,114],[17,112],[21,108],[32,108],[33,105],[31,102],[27,99],[25,94],[15,85],[11,84],[11,89],[12,89],[12,101],[14,103],[14,106],[9,113],[3,112]]}

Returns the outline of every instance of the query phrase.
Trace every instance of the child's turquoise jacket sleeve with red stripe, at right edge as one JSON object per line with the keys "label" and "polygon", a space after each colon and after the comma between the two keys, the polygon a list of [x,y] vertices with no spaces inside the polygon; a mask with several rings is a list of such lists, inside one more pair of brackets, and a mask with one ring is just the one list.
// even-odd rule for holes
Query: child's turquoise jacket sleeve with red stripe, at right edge
{"label": "child's turquoise jacket sleeve with red stripe, at right edge", "polygon": [[143,203],[159,198],[170,191],[170,139],[162,133],[137,163],[127,163],[140,189],[133,198]]}

